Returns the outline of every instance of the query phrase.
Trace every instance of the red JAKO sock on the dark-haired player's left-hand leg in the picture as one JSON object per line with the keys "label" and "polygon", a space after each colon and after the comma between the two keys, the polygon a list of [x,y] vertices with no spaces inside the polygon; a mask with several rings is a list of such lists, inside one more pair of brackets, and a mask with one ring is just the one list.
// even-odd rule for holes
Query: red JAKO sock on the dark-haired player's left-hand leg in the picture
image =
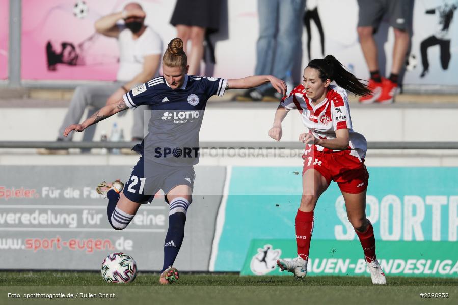
{"label": "red JAKO sock on the dark-haired player's left-hand leg in the picture", "polygon": [[296,243],[298,244],[298,255],[305,260],[309,258],[314,219],[313,211],[303,212],[298,209],[296,214]]}

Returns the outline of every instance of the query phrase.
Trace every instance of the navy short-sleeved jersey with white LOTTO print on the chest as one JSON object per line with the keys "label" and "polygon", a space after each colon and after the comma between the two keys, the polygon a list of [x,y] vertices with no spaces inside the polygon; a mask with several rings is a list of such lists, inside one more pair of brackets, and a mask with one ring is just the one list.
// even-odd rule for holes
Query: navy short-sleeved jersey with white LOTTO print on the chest
{"label": "navy short-sleeved jersey with white LOTTO print on the chest", "polygon": [[149,105],[148,135],[133,150],[148,161],[170,166],[199,162],[199,131],[208,99],[223,96],[227,80],[185,75],[172,90],[164,77],[154,78],[123,96],[130,109]]}

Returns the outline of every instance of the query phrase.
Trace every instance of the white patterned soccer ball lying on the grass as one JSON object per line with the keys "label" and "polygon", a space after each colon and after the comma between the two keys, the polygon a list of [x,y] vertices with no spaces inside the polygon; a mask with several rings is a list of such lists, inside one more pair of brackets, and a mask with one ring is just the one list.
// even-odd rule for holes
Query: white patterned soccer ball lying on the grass
{"label": "white patterned soccer ball lying on the grass", "polygon": [[102,263],[102,277],[107,283],[129,283],[137,276],[137,264],[125,253],[109,254]]}

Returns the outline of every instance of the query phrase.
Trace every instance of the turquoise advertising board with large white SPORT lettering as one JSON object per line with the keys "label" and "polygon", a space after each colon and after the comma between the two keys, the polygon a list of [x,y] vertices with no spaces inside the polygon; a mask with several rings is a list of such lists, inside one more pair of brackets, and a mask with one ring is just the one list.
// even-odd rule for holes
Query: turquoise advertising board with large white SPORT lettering
{"label": "turquoise advertising board with large white SPORT lettering", "polygon": [[[373,224],[376,240],[413,244],[434,241],[432,245],[451,242],[458,250],[458,168],[372,167],[368,170],[366,214]],[[240,271],[253,239],[294,241],[294,217],[302,194],[301,175],[296,172],[300,173],[301,168],[232,168],[224,223],[220,236],[215,238],[218,252],[214,271]],[[314,240],[359,244],[334,183],[318,200],[312,249]]]}

